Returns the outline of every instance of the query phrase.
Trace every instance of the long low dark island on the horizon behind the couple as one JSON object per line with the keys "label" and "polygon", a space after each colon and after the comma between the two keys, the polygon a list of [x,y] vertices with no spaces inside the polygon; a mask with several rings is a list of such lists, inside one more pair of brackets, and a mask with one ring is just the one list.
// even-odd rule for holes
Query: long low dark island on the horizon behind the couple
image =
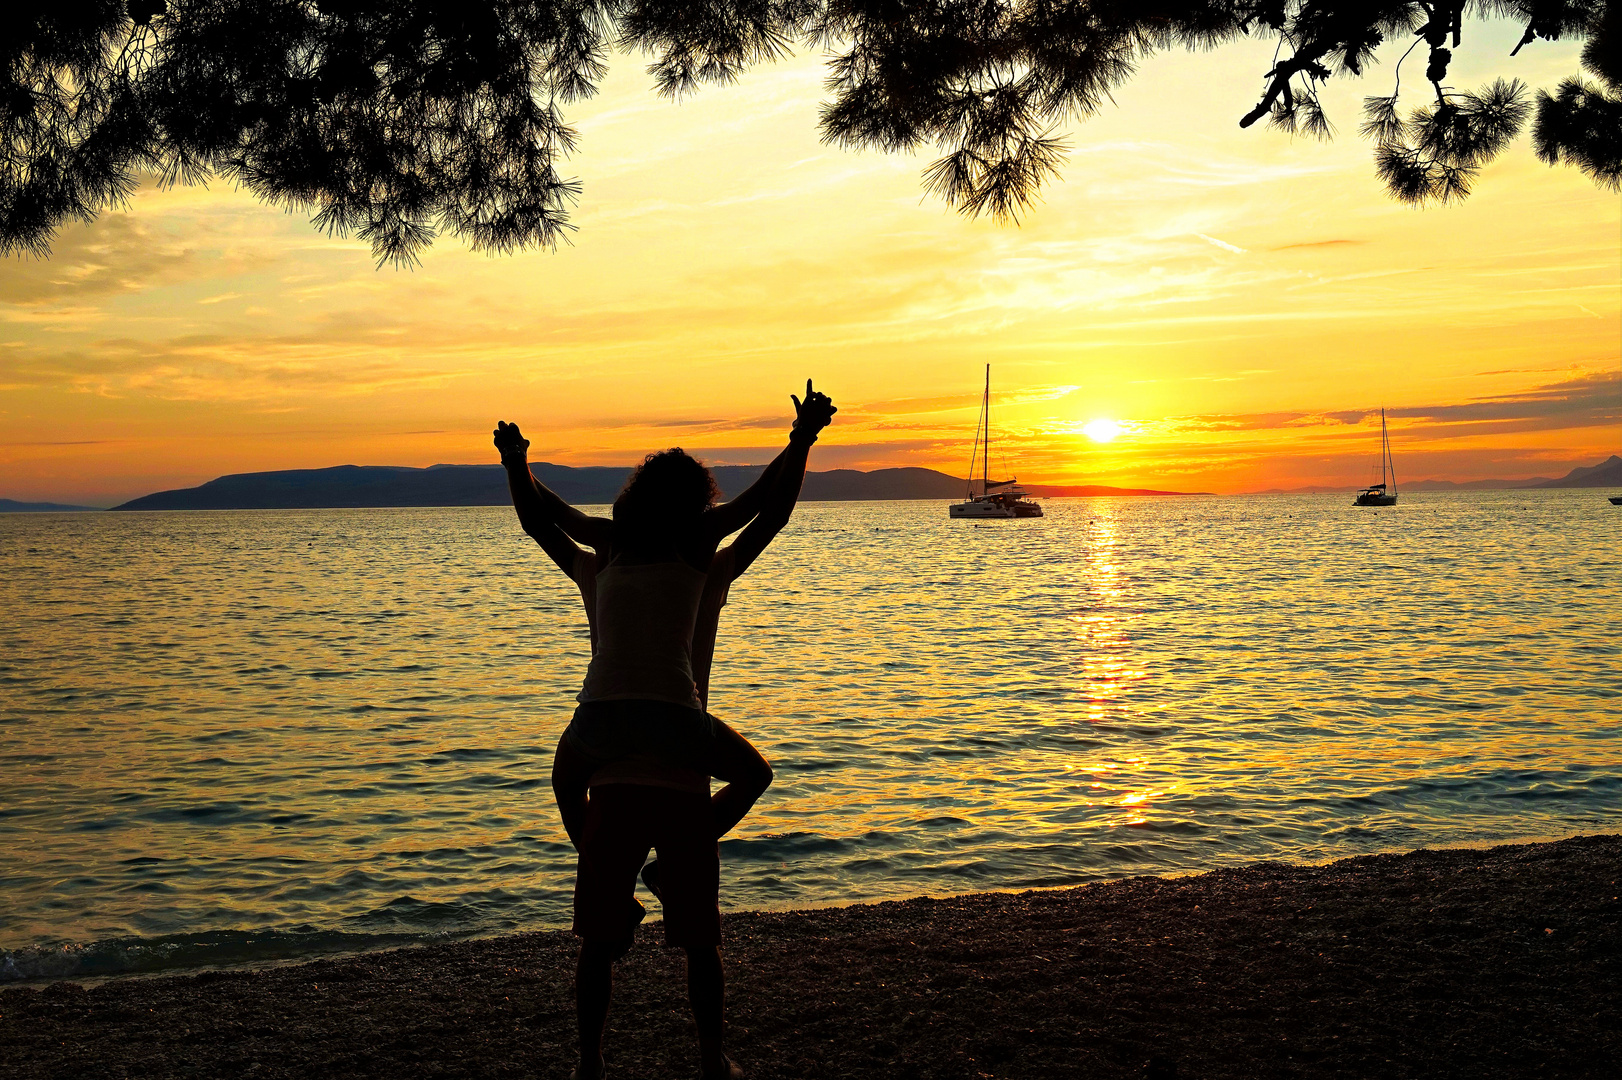
{"label": "long low dark island on the horizon behind the couple", "polygon": [[[611,503],[631,475],[629,467],[592,465],[574,469],[534,462],[535,477],[561,498],[576,504]],[[717,465],[715,482],[728,496],[743,491],[761,475],[761,465]],[[1186,495],[1147,488],[1045,486],[1032,495],[1049,498],[1075,495]],[[357,506],[503,506],[509,501],[501,465],[334,465],[331,469],[290,469],[284,472],[242,472],[209,480],[195,488],[156,491],[114,509],[326,509]],[[934,469],[834,469],[806,474],[800,498],[835,503],[848,499],[957,499],[963,480]]]}

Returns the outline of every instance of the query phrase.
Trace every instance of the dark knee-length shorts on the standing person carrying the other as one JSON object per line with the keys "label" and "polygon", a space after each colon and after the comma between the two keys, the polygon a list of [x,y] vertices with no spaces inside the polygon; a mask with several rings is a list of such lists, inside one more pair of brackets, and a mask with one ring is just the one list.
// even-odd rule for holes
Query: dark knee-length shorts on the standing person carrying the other
{"label": "dark knee-length shorts on the standing person carrying the other", "polygon": [[636,874],[659,851],[665,944],[720,944],[720,846],[704,795],[641,783],[605,783],[586,803],[574,871],[574,936],[624,941]]}

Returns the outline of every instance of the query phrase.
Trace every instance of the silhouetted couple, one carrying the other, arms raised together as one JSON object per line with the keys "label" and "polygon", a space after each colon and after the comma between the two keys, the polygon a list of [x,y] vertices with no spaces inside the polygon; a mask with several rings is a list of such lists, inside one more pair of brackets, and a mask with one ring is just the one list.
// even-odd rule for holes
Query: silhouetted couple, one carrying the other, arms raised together
{"label": "silhouetted couple, one carrying the other, arms raised together", "polygon": [[[551,770],[563,827],[579,853],[576,1080],[603,1074],[613,963],[644,916],[639,869],[663,910],[665,944],[688,954],[702,1075],[743,1075],[722,1033],[717,840],[772,783],[772,767],[707,712],[709,670],[727,590],[788,524],[811,444],[837,412],[809,379],[805,401],[790,397],[796,417],[788,446],[743,495],[717,506],[709,469],[668,449],[631,474],[611,521],[582,514],[535,480],[517,425],[495,431],[519,522],[579,585],[590,626],[586,684]],[[723,783],[714,796],[710,777]],[[657,861],[644,866],[649,848]]]}

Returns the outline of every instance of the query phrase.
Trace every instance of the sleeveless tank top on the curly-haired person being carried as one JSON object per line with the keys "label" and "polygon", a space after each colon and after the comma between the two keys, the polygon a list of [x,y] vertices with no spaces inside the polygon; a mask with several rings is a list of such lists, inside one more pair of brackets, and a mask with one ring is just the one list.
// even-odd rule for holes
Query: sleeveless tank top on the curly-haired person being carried
{"label": "sleeveless tank top on the curly-haired person being carried", "polygon": [[595,647],[579,701],[667,701],[699,709],[693,629],[706,574],[686,563],[605,566],[589,600]]}

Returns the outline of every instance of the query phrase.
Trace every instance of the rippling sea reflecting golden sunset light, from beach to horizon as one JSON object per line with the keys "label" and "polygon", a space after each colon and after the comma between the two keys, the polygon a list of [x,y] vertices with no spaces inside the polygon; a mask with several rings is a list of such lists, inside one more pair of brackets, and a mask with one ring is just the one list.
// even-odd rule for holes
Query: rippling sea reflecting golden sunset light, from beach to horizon
{"label": "rippling sea reflecting golden sunset light, from beach to horizon", "polygon": [[[806,504],[730,908],[1622,829],[1594,491]],[[587,660],[511,511],[0,516],[0,979],[564,926]]]}

